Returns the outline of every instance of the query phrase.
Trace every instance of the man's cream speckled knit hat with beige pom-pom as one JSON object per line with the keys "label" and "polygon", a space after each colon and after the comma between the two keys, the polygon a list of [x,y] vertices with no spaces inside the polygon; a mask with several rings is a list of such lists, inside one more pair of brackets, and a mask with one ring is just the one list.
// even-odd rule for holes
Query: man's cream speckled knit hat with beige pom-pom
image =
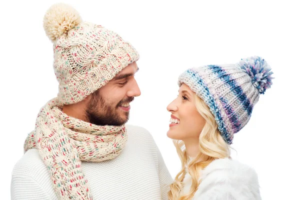
{"label": "man's cream speckled knit hat with beige pom-pom", "polygon": [[82,22],[66,4],[54,4],[43,26],[53,42],[54,71],[62,104],[79,102],[139,58],[137,51],[101,25]]}

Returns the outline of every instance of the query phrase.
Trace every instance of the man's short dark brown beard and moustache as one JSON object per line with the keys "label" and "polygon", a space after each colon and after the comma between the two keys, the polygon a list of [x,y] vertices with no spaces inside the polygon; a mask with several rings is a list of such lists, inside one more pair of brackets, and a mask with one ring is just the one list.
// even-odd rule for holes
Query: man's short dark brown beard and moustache
{"label": "man's short dark brown beard and moustache", "polygon": [[122,118],[117,111],[122,103],[129,103],[134,97],[128,97],[121,100],[116,107],[106,102],[98,90],[91,94],[91,99],[85,110],[86,118],[90,123],[96,125],[122,125],[129,119],[129,112],[125,112],[126,117]]}

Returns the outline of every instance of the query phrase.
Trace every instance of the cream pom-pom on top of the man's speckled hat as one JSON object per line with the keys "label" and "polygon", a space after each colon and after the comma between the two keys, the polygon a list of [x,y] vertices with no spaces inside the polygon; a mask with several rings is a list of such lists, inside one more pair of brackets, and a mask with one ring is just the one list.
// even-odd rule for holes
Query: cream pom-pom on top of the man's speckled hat
{"label": "cream pom-pom on top of the man's speckled hat", "polygon": [[57,37],[81,22],[79,13],[70,5],[57,3],[45,13],[43,27],[46,35],[55,41]]}

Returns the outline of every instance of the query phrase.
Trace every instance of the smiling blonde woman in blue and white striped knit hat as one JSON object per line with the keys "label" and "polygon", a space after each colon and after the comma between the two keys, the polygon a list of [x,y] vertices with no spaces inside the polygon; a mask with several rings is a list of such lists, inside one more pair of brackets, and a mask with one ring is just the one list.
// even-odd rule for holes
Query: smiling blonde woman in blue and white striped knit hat
{"label": "smiling blonde woman in blue and white striped knit hat", "polygon": [[179,76],[179,95],[167,106],[167,136],[174,139],[182,168],[169,199],[261,199],[255,171],[230,158],[230,144],[270,87],[271,74],[265,60],[253,56]]}

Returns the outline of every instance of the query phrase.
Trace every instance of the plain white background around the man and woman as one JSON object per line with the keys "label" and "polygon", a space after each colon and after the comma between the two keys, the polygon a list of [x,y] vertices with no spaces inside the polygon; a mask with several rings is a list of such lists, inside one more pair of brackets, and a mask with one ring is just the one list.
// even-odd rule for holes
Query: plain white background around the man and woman
{"label": "plain white background around the man and woman", "polygon": [[[55,97],[52,44],[42,19],[53,0],[0,3],[1,199],[10,197],[13,165],[34,128],[39,108]],[[253,166],[262,199],[300,199],[299,6],[282,0],[166,1],[65,0],[82,19],[119,33],[140,53],[141,96],[130,124],[153,135],[172,175],[180,161],[166,137],[167,104],[188,67],[235,63],[262,56],[272,67],[272,87],[260,96],[249,123],[235,135],[232,156]]]}

